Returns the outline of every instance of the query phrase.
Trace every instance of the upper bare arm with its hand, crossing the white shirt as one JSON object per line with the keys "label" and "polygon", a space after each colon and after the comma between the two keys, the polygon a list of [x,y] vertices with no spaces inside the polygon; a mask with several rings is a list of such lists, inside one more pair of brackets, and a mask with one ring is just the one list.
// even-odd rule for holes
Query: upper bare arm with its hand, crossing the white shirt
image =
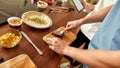
{"label": "upper bare arm with its hand, crossing the white shirt", "polygon": [[111,8],[112,8],[112,5],[104,8],[104,9],[101,9],[98,12],[96,12],[90,16],[86,16],[79,20],[70,21],[66,25],[66,30],[79,28],[82,24],[101,22],[101,21],[103,21],[103,19],[105,18],[105,16],[107,15],[107,13],[109,12],[109,10]]}

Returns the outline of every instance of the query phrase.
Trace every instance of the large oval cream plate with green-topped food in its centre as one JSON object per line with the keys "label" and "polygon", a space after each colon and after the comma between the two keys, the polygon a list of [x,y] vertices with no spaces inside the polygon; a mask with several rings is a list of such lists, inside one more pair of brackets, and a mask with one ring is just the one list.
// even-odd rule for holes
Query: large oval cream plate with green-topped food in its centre
{"label": "large oval cream plate with green-topped food in its centre", "polygon": [[52,26],[51,18],[42,12],[25,12],[22,14],[22,20],[26,25],[37,29],[49,28]]}

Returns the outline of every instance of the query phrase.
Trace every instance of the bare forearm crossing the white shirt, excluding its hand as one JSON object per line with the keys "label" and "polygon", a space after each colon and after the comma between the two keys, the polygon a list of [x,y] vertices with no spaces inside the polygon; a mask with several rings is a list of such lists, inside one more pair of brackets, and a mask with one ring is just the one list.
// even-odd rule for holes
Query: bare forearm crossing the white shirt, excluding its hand
{"label": "bare forearm crossing the white shirt, excluding its hand", "polygon": [[102,22],[111,8],[112,8],[112,5],[106,8],[103,8],[90,16],[86,16],[85,18],[83,18],[83,23],[81,23],[80,25],[86,24],[86,23],[93,23],[93,22]]}

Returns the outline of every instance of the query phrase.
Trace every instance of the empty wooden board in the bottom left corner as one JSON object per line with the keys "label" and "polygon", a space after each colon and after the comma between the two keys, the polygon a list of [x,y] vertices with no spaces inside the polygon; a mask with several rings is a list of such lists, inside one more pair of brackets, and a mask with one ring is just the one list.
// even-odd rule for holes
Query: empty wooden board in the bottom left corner
{"label": "empty wooden board in the bottom left corner", "polygon": [[18,55],[0,64],[0,68],[37,68],[26,54]]}

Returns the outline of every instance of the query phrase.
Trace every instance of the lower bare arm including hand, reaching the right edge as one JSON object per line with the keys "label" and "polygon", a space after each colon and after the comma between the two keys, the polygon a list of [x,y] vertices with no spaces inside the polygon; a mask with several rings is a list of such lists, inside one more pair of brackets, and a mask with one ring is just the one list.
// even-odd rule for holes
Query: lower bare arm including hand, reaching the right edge
{"label": "lower bare arm including hand, reaching the right edge", "polygon": [[83,50],[70,47],[59,38],[48,39],[50,49],[69,56],[90,68],[120,68],[120,51]]}

